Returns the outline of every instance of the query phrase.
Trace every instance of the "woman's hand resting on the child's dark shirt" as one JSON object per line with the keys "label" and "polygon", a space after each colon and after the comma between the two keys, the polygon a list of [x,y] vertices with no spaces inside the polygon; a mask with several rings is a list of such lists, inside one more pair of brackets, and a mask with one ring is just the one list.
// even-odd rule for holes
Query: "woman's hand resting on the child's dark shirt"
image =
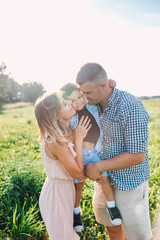
{"label": "woman's hand resting on the child's dark shirt", "polygon": [[76,127],[75,129],[75,140],[83,140],[89,129],[91,128],[92,124],[90,124],[90,119],[88,119],[88,117],[84,117],[82,116],[79,123],[78,123],[78,126]]}

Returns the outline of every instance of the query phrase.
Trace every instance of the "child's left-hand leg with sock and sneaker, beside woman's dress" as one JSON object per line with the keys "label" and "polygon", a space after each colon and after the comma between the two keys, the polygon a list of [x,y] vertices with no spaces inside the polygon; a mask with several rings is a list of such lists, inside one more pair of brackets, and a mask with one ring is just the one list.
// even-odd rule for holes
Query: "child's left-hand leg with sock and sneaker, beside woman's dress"
{"label": "child's left-hand leg with sock and sneaker, beside woman's dress", "polygon": [[75,228],[76,232],[81,232],[83,229],[83,222],[81,219],[81,212],[80,212],[80,201],[81,201],[81,194],[82,189],[84,186],[85,181],[76,181],[75,189],[76,189],[76,199],[74,205],[74,222],[73,227]]}

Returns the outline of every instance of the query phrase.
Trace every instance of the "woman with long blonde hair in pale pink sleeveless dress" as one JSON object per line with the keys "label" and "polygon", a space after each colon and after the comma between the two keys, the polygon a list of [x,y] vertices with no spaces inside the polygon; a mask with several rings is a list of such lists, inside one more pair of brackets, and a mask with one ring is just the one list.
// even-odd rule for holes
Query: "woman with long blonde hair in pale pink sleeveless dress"
{"label": "woman with long blonde hair in pale pink sleeveless dress", "polygon": [[42,97],[35,104],[47,174],[39,206],[50,240],[79,239],[73,228],[73,177],[81,179],[84,175],[82,145],[91,125],[88,118],[82,117],[73,135],[69,121],[74,114],[72,102],[58,93]]}

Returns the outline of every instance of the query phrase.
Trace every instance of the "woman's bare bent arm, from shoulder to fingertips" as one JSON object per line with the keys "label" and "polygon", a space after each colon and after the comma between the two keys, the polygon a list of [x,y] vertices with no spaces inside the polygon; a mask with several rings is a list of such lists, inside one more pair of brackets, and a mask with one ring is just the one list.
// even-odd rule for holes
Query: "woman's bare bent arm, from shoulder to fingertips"
{"label": "woman's bare bent arm, from shoulder to fingertips", "polygon": [[89,122],[90,120],[87,121],[87,118],[84,119],[84,117],[82,117],[75,130],[76,158],[74,158],[68,146],[58,146],[55,143],[47,143],[49,152],[63,164],[69,175],[73,178],[81,179],[84,175],[82,146],[83,139],[91,127]]}

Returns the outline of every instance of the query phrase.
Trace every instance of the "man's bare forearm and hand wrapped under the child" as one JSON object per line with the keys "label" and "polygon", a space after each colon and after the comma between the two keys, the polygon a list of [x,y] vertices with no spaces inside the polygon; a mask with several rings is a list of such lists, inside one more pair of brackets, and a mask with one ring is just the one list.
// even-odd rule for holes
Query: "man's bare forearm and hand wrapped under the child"
{"label": "man's bare forearm and hand wrapped under the child", "polygon": [[97,163],[88,163],[85,167],[85,174],[91,180],[99,178],[100,173],[103,171],[119,170],[129,168],[140,163],[145,159],[145,152],[129,153],[125,152],[111,159],[102,160]]}

